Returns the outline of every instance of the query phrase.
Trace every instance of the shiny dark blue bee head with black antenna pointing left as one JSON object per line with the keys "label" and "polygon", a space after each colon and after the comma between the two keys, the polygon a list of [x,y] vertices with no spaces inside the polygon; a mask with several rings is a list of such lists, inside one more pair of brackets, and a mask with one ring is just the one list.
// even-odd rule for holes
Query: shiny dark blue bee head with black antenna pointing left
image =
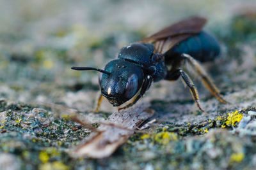
{"label": "shiny dark blue bee head with black antenna pointing left", "polygon": [[101,93],[113,106],[120,106],[129,101],[140,90],[143,83],[143,70],[125,60],[112,60],[105,69],[92,67],[72,67],[76,70],[99,71]]}

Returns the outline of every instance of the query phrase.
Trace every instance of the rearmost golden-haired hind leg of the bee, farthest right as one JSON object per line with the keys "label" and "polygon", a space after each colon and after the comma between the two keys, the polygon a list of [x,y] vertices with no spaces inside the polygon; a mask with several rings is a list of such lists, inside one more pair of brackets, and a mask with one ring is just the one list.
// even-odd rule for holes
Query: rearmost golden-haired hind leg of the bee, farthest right
{"label": "rearmost golden-haired hind leg of the bee, farthest right", "polygon": [[220,94],[220,90],[217,89],[211,78],[207,76],[207,73],[204,71],[203,67],[200,66],[200,64],[195,59],[193,59],[193,57],[186,53],[182,53],[182,57],[184,57],[184,59],[188,61],[189,66],[191,66],[195,70],[195,72],[201,77],[201,80],[205,85],[206,89],[208,89],[213,96],[221,101],[221,103],[228,103],[227,101],[225,101],[225,99],[223,99]]}

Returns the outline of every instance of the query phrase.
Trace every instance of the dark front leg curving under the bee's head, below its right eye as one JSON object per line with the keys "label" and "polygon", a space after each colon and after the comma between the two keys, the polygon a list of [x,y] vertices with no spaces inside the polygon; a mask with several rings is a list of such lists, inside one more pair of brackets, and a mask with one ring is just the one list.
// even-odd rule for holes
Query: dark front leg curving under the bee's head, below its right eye
{"label": "dark front leg curving under the bee's head, below its right eye", "polygon": [[134,105],[143,96],[143,94],[145,94],[145,92],[149,89],[149,87],[152,83],[152,80],[153,80],[152,76],[148,75],[142,84],[140,93],[132,99],[131,103],[127,104],[123,108],[118,108],[118,111],[124,110],[124,109],[129,108],[132,105]]}

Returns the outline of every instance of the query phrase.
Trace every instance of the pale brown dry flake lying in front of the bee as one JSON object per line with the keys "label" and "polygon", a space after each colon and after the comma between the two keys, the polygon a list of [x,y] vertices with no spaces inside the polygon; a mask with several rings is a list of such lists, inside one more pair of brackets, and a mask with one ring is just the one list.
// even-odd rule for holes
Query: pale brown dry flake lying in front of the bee
{"label": "pale brown dry flake lying in front of the bee", "polygon": [[109,116],[96,132],[76,148],[71,150],[72,157],[88,156],[95,159],[109,157],[118,146],[122,145],[134,133],[136,127],[152,117],[154,110],[148,106],[129,108]]}

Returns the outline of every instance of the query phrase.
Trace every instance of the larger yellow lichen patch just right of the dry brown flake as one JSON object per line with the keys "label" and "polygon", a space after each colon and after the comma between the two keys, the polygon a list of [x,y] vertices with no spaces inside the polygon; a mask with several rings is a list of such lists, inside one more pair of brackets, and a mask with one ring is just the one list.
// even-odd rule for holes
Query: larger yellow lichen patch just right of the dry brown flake
{"label": "larger yellow lichen patch just right of the dry brown flake", "polygon": [[154,135],[154,140],[157,143],[161,143],[163,145],[167,145],[170,141],[177,141],[178,136],[173,132],[159,132]]}

